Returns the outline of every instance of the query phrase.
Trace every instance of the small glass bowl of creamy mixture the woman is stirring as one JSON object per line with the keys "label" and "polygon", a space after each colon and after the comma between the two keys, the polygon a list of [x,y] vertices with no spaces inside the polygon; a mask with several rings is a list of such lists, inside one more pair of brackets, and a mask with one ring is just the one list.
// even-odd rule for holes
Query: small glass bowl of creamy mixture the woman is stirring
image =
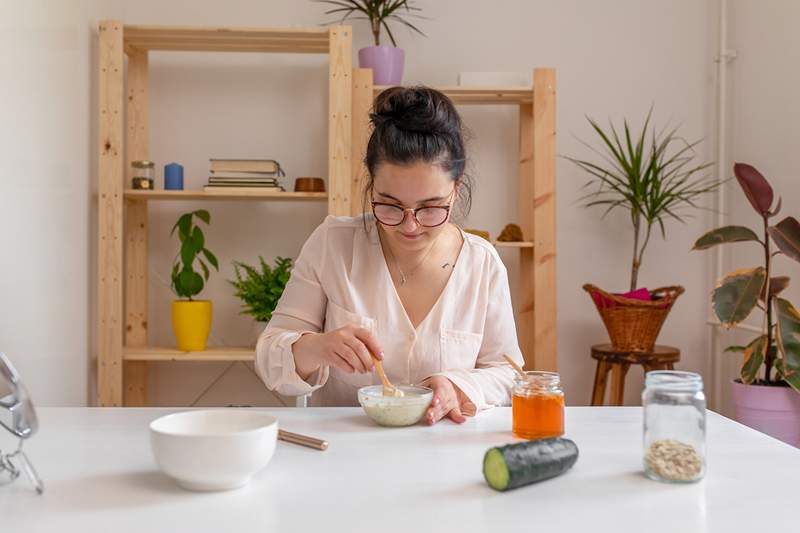
{"label": "small glass bowl of creamy mixture the woman is stirring", "polygon": [[433,391],[426,387],[400,385],[403,396],[384,396],[383,385],[358,389],[358,403],[372,420],[381,426],[403,427],[419,422],[433,400]]}

